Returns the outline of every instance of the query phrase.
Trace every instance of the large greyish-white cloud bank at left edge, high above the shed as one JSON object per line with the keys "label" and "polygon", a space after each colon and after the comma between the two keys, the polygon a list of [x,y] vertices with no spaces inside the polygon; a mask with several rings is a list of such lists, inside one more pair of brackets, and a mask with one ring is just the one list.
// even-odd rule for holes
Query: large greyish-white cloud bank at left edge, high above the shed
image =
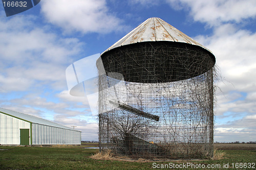
{"label": "large greyish-white cloud bank at left edge, high above the shed", "polygon": [[0,19],[1,92],[44,89],[45,84],[58,90],[67,88],[65,69],[81,53],[83,43],[33,26],[35,19]]}

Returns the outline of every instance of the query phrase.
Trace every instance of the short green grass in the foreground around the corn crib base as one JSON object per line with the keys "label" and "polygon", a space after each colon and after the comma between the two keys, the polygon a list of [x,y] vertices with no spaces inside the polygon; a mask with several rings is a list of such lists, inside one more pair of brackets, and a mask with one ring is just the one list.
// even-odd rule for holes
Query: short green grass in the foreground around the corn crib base
{"label": "short green grass in the foreground around the corn crib base", "polygon": [[[97,149],[83,149],[80,147],[3,147],[0,149],[0,169],[154,169],[153,162],[124,162],[114,160],[94,160],[90,156],[98,152]],[[203,161],[168,161],[156,162],[168,164],[170,162],[193,164],[256,163],[256,151],[224,150],[224,159]],[[172,169],[172,168],[167,168]],[[177,169],[177,168],[176,168]],[[186,168],[193,169],[193,168]],[[210,168],[205,168],[210,169]],[[214,169],[214,168],[212,168]],[[227,168],[218,168],[227,169]],[[229,168],[236,169],[236,168]],[[246,169],[246,168],[242,168]],[[247,168],[252,169],[252,168]]]}

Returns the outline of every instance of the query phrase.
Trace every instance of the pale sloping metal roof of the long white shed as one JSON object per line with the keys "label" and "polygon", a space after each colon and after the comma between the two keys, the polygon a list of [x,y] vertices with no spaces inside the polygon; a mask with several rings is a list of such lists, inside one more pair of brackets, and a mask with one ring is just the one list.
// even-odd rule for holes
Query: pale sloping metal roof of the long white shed
{"label": "pale sloping metal roof of the long white shed", "polygon": [[12,117],[23,119],[27,122],[34,123],[34,124],[41,124],[41,125],[53,126],[53,127],[62,128],[62,129],[74,130],[69,127],[56,124],[54,122],[51,122],[51,121],[43,119],[43,118],[39,118],[36,116],[32,116],[29,114],[24,114],[24,113],[12,111],[12,110],[4,109],[4,108],[0,108],[0,113],[4,113],[4,114],[10,115]]}

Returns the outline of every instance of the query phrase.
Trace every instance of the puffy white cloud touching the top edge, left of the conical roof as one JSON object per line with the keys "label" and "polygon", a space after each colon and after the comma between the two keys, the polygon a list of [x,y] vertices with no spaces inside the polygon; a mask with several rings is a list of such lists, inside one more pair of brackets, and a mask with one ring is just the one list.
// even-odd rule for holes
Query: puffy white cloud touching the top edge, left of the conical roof
{"label": "puffy white cloud touching the top edge, left of the conical roof", "polygon": [[123,27],[105,0],[45,0],[40,4],[46,19],[69,33],[109,33]]}

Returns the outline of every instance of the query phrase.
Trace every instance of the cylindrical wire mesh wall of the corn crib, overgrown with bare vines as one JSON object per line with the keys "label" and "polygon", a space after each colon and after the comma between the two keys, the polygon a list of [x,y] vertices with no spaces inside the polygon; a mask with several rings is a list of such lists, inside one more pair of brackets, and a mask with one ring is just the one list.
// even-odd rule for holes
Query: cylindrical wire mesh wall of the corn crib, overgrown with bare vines
{"label": "cylindrical wire mesh wall of the corn crib, overgrown with bare vines", "polygon": [[106,71],[99,77],[101,151],[165,159],[213,155],[211,53],[161,41],[117,47],[101,59]]}

